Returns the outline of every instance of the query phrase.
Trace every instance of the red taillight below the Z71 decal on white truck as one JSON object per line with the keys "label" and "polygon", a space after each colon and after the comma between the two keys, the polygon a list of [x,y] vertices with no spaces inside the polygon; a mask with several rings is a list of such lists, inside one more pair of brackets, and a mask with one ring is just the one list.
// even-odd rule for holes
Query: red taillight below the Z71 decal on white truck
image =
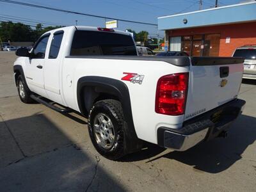
{"label": "red taillight below the Z71 decal on white truck", "polygon": [[156,113],[182,115],[188,93],[188,73],[161,77],[156,88]]}

